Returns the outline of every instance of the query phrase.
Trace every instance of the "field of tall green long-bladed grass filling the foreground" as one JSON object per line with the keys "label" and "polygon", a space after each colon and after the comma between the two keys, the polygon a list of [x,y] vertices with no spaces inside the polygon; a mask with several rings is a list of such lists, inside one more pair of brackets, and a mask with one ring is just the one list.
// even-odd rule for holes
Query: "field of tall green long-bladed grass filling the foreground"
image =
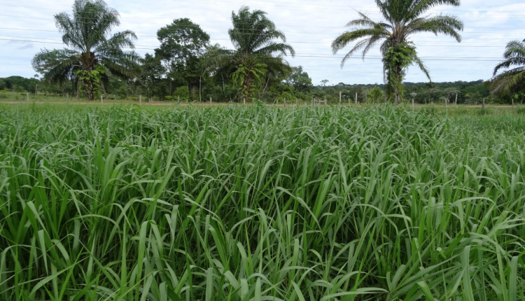
{"label": "field of tall green long-bladed grass filling the foreground", "polygon": [[0,300],[524,300],[525,114],[461,110],[0,105]]}

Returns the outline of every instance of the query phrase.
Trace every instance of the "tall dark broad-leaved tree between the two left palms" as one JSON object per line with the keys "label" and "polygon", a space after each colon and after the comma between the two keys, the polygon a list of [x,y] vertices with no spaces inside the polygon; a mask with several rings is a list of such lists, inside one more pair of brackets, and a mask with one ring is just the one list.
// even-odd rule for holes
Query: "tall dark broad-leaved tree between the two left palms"
{"label": "tall dark broad-leaved tree between the two left palms", "polygon": [[[169,94],[172,82],[178,85],[197,85],[199,82],[199,60],[209,45],[209,35],[188,18],[173,20],[172,24],[157,31],[160,41],[155,55],[160,57],[168,71]],[[188,87],[189,89],[189,87]]]}

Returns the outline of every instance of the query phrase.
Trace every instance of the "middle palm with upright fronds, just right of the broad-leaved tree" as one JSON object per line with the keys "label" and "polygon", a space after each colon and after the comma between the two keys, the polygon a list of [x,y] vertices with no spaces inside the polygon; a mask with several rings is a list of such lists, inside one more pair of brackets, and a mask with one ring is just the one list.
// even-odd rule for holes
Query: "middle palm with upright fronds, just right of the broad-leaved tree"
{"label": "middle palm with upright fronds, just right of the broad-leaved tree", "polygon": [[[228,30],[235,50],[223,52],[208,62],[216,73],[228,73],[243,97],[253,96],[253,87],[268,76],[288,71],[283,56],[295,55],[284,34],[262,10],[250,11],[243,6],[232,12],[233,28]],[[277,42],[275,40],[281,40]],[[276,56],[274,56],[276,55]]]}

